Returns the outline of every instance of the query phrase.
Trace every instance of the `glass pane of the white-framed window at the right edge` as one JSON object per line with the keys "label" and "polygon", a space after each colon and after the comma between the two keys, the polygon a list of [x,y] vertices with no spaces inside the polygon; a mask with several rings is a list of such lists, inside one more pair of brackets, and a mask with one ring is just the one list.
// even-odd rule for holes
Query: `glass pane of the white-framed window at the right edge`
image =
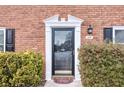
{"label": "glass pane of the white-framed window at the right edge", "polygon": [[115,43],[124,43],[124,30],[115,30]]}

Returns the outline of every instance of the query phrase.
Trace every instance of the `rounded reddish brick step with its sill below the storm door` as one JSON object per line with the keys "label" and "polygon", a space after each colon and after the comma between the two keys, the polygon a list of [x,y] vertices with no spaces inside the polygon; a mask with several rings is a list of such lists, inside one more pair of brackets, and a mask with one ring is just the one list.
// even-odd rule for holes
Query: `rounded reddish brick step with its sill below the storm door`
{"label": "rounded reddish brick step with its sill below the storm door", "polygon": [[59,84],[68,84],[68,83],[73,82],[74,76],[71,76],[71,75],[69,75],[69,76],[67,76],[67,75],[65,75],[65,76],[55,75],[55,76],[53,76],[52,79],[54,80],[54,82],[59,83]]}

